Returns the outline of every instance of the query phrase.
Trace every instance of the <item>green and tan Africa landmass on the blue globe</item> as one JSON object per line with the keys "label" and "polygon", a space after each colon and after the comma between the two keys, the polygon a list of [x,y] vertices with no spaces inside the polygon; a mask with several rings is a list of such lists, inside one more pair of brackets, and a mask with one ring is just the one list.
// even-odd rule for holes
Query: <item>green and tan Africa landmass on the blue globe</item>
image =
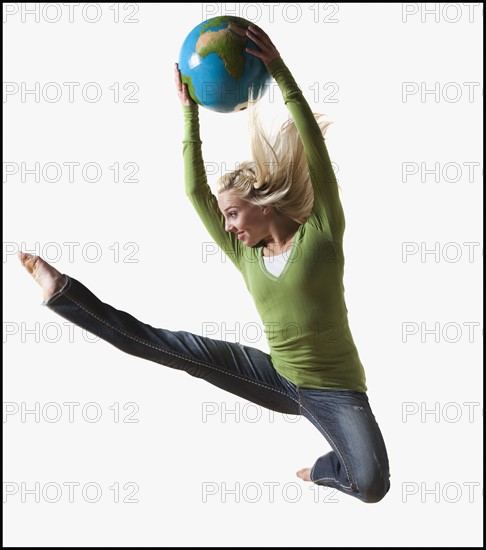
{"label": "green and tan Africa landmass on the blue globe", "polygon": [[[234,27],[233,27],[234,28]],[[217,54],[224,62],[228,73],[238,80],[245,68],[246,38],[240,36],[237,31],[221,29],[219,31],[206,31],[196,42],[196,53],[200,57],[206,57],[210,53]]]}

